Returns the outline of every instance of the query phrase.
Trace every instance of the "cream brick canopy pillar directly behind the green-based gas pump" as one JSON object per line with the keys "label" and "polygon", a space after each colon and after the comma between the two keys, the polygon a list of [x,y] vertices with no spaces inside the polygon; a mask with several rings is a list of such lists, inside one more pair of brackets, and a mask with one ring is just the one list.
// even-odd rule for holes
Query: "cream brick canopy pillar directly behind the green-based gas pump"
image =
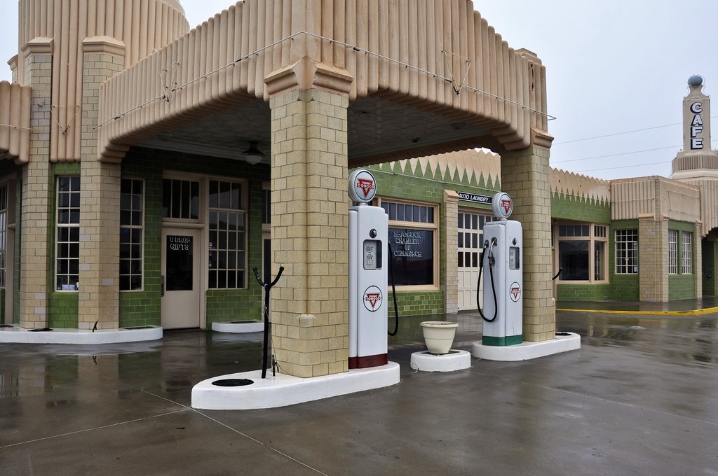
{"label": "cream brick canopy pillar directly behind the green-based gas pump", "polygon": [[534,145],[501,153],[501,189],[513,198],[511,219],[523,227],[523,340],[550,341],[556,338],[556,306],[549,149]]}

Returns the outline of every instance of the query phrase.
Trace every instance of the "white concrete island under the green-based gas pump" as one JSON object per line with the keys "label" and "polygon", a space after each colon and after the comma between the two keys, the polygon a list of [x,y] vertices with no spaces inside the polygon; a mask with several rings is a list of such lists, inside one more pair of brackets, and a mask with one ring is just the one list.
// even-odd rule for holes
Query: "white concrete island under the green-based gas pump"
{"label": "white concrete island under the green-based gas pump", "polygon": [[523,342],[516,346],[484,346],[481,341],[477,341],[471,346],[471,354],[489,361],[527,361],[581,348],[580,335],[572,332],[566,334],[556,335],[552,341]]}

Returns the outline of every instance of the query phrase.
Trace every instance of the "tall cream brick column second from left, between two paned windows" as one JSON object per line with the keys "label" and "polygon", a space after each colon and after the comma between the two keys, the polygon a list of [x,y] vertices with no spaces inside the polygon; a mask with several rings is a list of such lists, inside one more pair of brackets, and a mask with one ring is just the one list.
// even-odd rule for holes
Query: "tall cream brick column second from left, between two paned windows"
{"label": "tall cream brick column second from left, between two paned windows", "polygon": [[83,41],[80,290],[78,328],[119,327],[119,163],[97,153],[100,85],[123,67],[124,44],[107,37]]}

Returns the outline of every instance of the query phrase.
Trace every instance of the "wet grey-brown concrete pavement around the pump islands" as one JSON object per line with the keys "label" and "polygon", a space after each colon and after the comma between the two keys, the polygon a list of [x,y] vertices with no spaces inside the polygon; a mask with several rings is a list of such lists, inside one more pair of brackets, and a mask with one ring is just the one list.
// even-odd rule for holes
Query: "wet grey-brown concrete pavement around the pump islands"
{"label": "wet grey-brown concrete pavement around the pump islands", "polygon": [[[561,311],[579,351],[452,373],[409,367],[421,320],[389,341],[400,384],[267,410],[190,409],[261,334],[4,344],[0,475],[718,475],[718,315]],[[449,320],[470,351],[477,316]]]}

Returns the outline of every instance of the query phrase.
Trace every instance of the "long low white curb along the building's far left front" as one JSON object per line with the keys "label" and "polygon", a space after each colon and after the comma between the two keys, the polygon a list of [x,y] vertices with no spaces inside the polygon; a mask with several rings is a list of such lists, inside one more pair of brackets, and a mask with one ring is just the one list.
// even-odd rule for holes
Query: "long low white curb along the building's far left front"
{"label": "long low white curb along the building's far left front", "polygon": [[154,341],[162,338],[162,328],[147,329],[58,329],[31,331],[13,325],[0,328],[0,343],[28,344],[109,344],[120,342]]}

